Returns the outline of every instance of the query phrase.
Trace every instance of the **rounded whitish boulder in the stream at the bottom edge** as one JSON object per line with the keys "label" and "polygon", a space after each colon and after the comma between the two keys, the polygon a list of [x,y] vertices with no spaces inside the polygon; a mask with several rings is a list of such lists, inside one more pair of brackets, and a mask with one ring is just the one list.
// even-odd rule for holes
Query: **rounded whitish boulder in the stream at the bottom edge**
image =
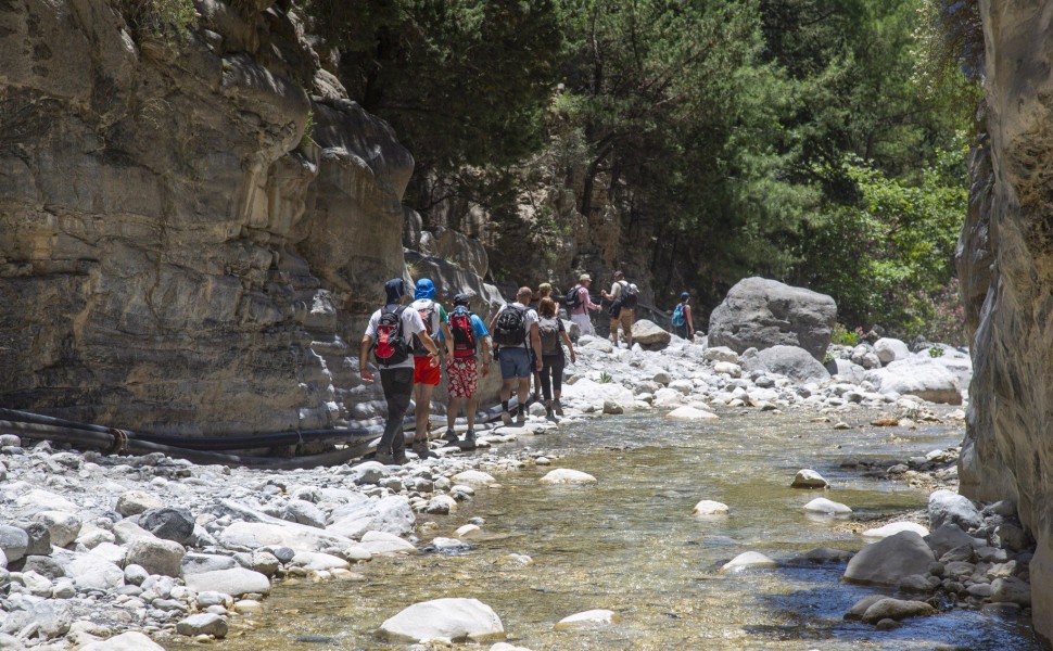
{"label": "rounded whitish boulder in the stream at the bottom edge", "polygon": [[505,639],[505,627],[497,613],[478,599],[445,598],[410,605],[381,624],[377,635],[410,643],[431,639],[490,642]]}

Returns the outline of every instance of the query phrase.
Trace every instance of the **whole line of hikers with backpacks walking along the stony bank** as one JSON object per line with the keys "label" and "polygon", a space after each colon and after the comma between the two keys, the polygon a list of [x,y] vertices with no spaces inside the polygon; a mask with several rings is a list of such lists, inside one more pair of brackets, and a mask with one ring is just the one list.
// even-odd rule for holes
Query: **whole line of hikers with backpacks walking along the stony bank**
{"label": "whole line of hikers with backpacks walking along the stony bank", "polygon": [[[563,307],[581,334],[595,334],[589,312],[601,305],[593,303],[589,295],[592,278],[581,275],[564,297]],[[384,433],[377,444],[376,459],[385,464],[404,464],[407,461],[403,419],[409,401],[416,404],[416,432],[413,451],[421,459],[434,456],[428,445],[431,398],[442,379],[442,361],[445,358],[446,383],[449,407],[446,412],[444,438],[462,449],[475,447],[475,410],[478,407],[479,378],[490,373],[496,360],[500,370],[502,421],[509,425],[515,419],[526,420],[526,405],[531,379],[535,399],[544,399],[546,417],[563,414],[560,405],[563,367],[567,355],[576,362],[573,342],[559,318],[559,304],[553,296],[553,285],[542,283],[535,294],[530,288],[520,288],[516,301],[502,306],[486,324],[471,311],[471,296],[454,296],[454,308],[447,312],[435,301],[435,285],[424,278],[417,281],[413,302],[402,278],[384,283],[384,306],[372,314],[359,345],[359,374],[363,382],[375,382],[376,375],[367,367],[369,355],[379,368],[380,383],[388,404]],[[616,271],[610,292],[601,292],[610,302],[610,336],[619,346],[619,329],[630,348],[633,347],[633,322],[636,318],[639,291],[625,280],[624,273]],[[694,336],[694,326],[688,301],[684,292],[673,310],[673,327],[684,339]],[[491,345],[491,342],[493,345]],[[566,348],[566,349],[564,349]],[[493,357],[491,357],[493,352]],[[542,396],[537,395],[537,392]],[[517,398],[510,408],[512,394]],[[461,441],[454,424],[461,408],[468,420],[468,431]]]}

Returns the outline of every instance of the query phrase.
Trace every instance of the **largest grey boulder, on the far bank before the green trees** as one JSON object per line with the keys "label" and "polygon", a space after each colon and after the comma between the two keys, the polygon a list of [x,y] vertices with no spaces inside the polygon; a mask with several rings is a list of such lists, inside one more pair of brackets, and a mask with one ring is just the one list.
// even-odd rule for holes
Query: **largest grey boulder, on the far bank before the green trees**
{"label": "largest grey boulder, on the far bank before the green trees", "polygon": [[825,294],[747,278],[710,315],[709,344],[739,354],[749,348],[797,346],[821,360],[836,319],[837,305]]}

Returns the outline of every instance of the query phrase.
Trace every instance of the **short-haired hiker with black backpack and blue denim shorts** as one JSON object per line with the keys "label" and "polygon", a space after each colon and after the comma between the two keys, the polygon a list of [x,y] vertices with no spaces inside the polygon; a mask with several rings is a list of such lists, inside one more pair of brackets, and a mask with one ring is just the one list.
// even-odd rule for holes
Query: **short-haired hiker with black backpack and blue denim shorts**
{"label": "short-haired hiker with black backpack and blue denim shorts", "polygon": [[500,420],[511,424],[508,401],[511,399],[512,385],[519,398],[516,420],[526,421],[526,396],[530,394],[531,356],[533,367],[541,370],[541,341],[537,335],[537,312],[526,307],[533,292],[530,288],[519,288],[516,302],[504,305],[490,322],[494,347],[498,348],[500,363]]}

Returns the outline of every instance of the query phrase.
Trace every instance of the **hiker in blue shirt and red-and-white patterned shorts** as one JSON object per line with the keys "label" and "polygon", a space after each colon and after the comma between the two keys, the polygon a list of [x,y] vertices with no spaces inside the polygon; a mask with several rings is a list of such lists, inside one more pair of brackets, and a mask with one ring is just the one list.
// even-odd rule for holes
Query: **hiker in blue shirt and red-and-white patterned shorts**
{"label": "hiker in blue shirt and red-and-white patterned shorts", "polygon": [[[473,449],[475,447],[475,409],[479,398],[475,391],[479,387],[479,376],[490,372],[490,331],[478,315],[468,309],[471,297],[468,294],[454,296],[454,310],[449,312],[447,326],[453,335],[454,354],[446,361],[446,382],[449,384],[449,408],[446,410],[446,435],[444,438],[457,444],[457,433],[454,432],[454,421],[465,404],[465,417],[468,418],[468,432],[460,447]],[[482,365],[475,360],[475,350],[482,343]]]}

